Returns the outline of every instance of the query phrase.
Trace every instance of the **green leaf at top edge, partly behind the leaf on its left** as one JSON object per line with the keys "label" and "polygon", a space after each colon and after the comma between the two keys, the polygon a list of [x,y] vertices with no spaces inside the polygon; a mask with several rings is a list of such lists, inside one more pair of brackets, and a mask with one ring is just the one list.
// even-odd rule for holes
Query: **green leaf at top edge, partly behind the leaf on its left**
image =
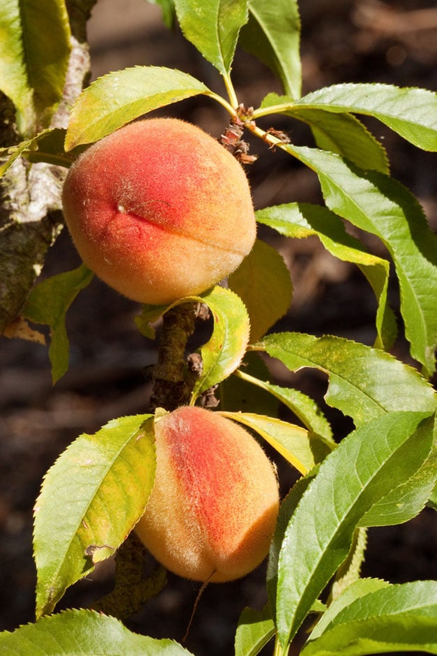
{"label": "green leaf at top edge, partly behind the leaf on its left", "polygon": [[300,16],[296,0],[249,1],[249,22],[240,43],[282,82],[285,94],[300,98]]}

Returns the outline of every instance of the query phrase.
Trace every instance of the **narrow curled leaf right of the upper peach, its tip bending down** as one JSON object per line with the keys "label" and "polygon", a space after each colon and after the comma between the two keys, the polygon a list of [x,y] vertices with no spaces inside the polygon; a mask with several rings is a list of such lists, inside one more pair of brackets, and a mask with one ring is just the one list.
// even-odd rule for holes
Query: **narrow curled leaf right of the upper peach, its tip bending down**
{"label": "narrow curled leaf right of the upper peach, its tip bending down", "polygon": [[390,348],[397,334],[397,326],[387,300],[390,273],[387,260],[367,253],[360,241],[346,232],[342,219],[326,207],[309,203],[266,207],[256,212],[256,221],[295,239],[316,234],[326,250],[336,258],[357,264],[378,301],[377,338],[374,345],[378,348]]}

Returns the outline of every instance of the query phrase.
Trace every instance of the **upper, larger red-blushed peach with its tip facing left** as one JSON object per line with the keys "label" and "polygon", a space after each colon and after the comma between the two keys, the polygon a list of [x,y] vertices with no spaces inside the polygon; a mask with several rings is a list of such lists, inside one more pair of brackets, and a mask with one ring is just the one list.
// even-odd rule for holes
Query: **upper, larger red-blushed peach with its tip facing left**
{"label": "upper, larger red-blushed peach with its tip facing left", "polygon": [[87,266],[141,303],[205,291],[256,236],[243,168],[179,119],[136,121],[89,147],[68,172],[63,211]]}

